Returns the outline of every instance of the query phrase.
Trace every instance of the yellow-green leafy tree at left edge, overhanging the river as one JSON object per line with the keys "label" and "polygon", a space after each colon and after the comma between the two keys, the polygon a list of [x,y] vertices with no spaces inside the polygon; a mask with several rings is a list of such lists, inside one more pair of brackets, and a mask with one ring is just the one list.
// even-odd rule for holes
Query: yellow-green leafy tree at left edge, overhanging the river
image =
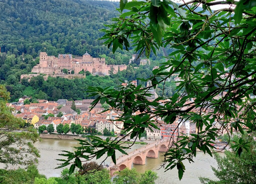
{"label": "yellow-green leafy tree at left edge, overhanging the river", "polygon": [[9,99],[10,93],[7,92],[5,85],[0,84],[0,163],[6,166],[37,163],[39,153],[31,143],[35,143],[39,135],[34,128],[23,128],[25,121],[15,117],[12,114],[14,109],[6,106]]}

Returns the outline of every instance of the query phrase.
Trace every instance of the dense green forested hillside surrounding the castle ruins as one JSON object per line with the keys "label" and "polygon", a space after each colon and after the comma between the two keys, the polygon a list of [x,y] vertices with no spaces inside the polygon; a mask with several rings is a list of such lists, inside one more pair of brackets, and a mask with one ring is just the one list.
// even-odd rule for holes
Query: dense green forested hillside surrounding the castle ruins
{"label": "dense green forested hillside surrounding the castle ruins", "polygon": [[[93,57],[105,57],[106,64],[129,64],[130,51],[116,50],[103,45],[99,40],[104,35],[100,29],[111,23],[111,18],[118,15],[115,7],[119,2],[82,1],[82,0],[44,0],[44,1],[1,1],[0,11],[0,83],[6,84],[11,93],[10,102],[17,101],[23,95],[36,99],[57,100],[87,99],[87,86],[101,88],[116,87],[122,81],[146,79],[152,75],[152,69],[164,62],[162,50],[157,55],[151,54],[151,65],[138,66],[139,59],[131,63],[127,70],[109,76],[88,75],[84,79],[34,77],[20,81],[21,74],[31,72],[39,63],[39,53],[57,56],[58,53],[71,53],[74,57],[86,51]],[[170,52],[170,50],[168,50]],[[141,58],[145,56],[141,56]],[[88,73],[87,73],[88,74]],[[146,82],[137,80],[138,85],[146,86]],[[176,85],[165,84],[165,95],[172,95]],[[156,92],[160,92],[163,84],[159,84]]]}

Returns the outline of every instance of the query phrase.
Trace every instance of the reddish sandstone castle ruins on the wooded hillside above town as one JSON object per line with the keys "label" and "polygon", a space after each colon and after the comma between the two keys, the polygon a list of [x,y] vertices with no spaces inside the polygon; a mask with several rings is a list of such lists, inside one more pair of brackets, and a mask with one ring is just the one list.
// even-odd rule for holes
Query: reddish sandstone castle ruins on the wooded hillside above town
{"label": "reddish sandstone castle ruins on the wooded hillside above town", "polygon": [[127,68],[126,65],[107,65],[105,58],[93,58],[87,52],[82,57],[73,58],[71,54],[59,54],[58,57],[48,56],[46,52],[40,52],[39,64],[33,67],[33,73],[62,74],[62,69],[67,69],[68,74],[72,70],[78,74],[82,69],[89,71],[93,75],[108,75],[113,68],[113,73],[117,73]]}

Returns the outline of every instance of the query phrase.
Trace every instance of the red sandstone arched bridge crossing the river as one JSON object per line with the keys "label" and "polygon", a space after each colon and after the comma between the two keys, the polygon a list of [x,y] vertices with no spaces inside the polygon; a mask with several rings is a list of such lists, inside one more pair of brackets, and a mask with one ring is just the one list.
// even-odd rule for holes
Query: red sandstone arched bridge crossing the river
{"label": "red sandstone arched bridge crossing the river", "polygon": [[162,139],[146,146],[136,149],[128,155],[122,155],[116,159],[116,164],[111,163],[108,169],[110,169],[111,176],[114,175],[114,172],[121,171],[124,168],[132,168],[132,164],[145,165],[146,157],[148,158],[158,158],[158,151],[166,152],[168,147],[172,145],[172,140]]}

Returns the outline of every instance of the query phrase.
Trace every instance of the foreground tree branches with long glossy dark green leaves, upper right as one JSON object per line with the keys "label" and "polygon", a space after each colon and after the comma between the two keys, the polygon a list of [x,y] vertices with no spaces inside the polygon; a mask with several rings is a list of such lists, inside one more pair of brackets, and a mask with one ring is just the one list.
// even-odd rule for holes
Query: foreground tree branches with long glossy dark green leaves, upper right
{"label": "foreground tree branches with long glossy dark green leaves, upper right", "polygon": [[[115,22],[104,30],[105,44],[113,45],[113,51],[117,47],[135,46],[149,56],[150,52],[162,47],[177,49],[146,80],[152,82],[151,88],[156,88],[178,73],[183,81],[177,88],[178,91],[184,89],[183,93],[175,93],[169,98],[160,96],[151,102],[146,98],[150,87],[128,85],[119,89],[90,89],[100,95],[93,104],[106,102],[123,111],[117,121],[124,122],[127,132],[132,130],[127,134],[131,138],[140,138],[145,128],[157,128],[159,124],[152,121],[153,117],[162,118],[167,124],[172,124],[176,118],[194,124],[195,133],[190,134],[190,138],[179,134],[178,144],[173,143],[174,148],[169,148],[165,154],[165,168],[176,167],[180,179],[185,172],[183,161],[193,161],[197,149],[212,155],[210,143],[217,134],[227,132],[231,135],[239,131],[251,136],[251,132],[255,132],[255,3],[253,0],[233,3],[192,0],[177,5],[169,0],[121,0],[120,17],[114,18]],[[203,10],[198,11],[200,5]],[[123,9],[130,11],[123,13]],[[133,41],[129,42],[129,38]],[[140,114],[134,115],[137,111]],[[107,152],[115,163],[115,150],[122,149],[118,142],[91,139],[93,141],[81,143],[84,146],[76,154],[67,154],[69,158],[64,165],[72,163],[71,172],[74,166],[81,166],[78,163],[79,157],[85,158],[83,153],[90,153],[86,157],[89,159]],[[240,138],[232,146],[237,156],[248,150],[248,140]],[[94,149],[99,145],[103,148],[100,152]],[[73,163],[70,158],[76,161]]]}

